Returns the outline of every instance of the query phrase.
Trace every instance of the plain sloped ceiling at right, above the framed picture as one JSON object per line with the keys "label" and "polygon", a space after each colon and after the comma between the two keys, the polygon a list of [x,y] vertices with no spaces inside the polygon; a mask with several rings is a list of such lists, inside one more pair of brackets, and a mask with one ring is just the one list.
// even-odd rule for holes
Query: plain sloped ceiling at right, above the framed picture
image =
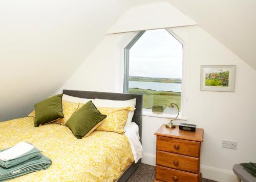
{"label": "plain sloped ceiling at right, above the framed picture", "polygon": [[255,0],[169,0],[169,2],[256,69]]}

